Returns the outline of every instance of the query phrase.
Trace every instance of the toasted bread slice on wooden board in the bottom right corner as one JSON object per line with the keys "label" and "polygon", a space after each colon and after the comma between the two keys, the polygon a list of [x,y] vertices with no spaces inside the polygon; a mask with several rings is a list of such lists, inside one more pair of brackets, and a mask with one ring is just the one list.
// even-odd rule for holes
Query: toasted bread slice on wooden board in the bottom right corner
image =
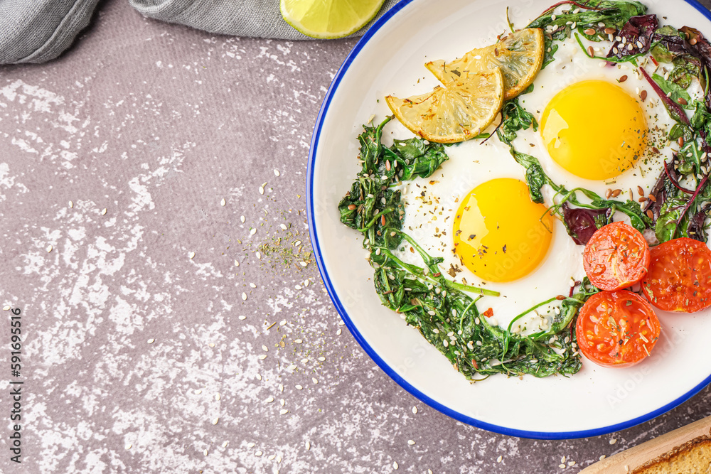
{"label": "toasted bread slice on wooden board in the bottom right corner", "polygon": [[711,438],[693,438],[644,463],[632,474],[711,474]]}

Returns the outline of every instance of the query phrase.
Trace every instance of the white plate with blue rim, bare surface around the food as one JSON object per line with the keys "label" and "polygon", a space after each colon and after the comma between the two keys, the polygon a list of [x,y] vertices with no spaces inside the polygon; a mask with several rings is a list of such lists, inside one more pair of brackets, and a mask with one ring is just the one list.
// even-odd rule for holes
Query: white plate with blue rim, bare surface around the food
{"label": "white plate with blue rim, bare surface around the food", "polygon": [[[551,3],[512,1],[510,16],[526,24]],[[711,14],[696,1],[645,3],[651,13],[667,17],[664,23],[688,24],[711,36]],[[415,90],[417,78],[429,74],[424,58],[454,57],[491,41],[506,29],[505,9],[496,0],[402,0],[348,55],[311,142],[306,193],[316,261],[338,313],[365,352],[429,406],[479,428],[527,438],[618,431],[663,414],[711,382],[711,315],[660,315],[665,337],[651,359],[635,367],[604,369],[584,361],[568,378],[494,375],[470,384],[417,330],[380,305],[360,234],[339,221],[338,202],[358,172],[356,137],[371,114],[379,122],[389,113],[383,97]]]}

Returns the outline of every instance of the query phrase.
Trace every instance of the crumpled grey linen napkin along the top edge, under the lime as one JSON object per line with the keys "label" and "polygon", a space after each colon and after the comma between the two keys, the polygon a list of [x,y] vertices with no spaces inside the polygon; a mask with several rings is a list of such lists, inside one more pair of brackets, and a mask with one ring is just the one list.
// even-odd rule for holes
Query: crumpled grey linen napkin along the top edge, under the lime
{"label": "crumpled grey linen napkin along the top edge, under the lime", "polygon": [[[0,0],[0,64],[56,58],[86,28],[98,0]],[[386,0],[360,36],[397,0]],[[309,39],[284,21],[279,0],[129,0],[141,14],[210,33]]]}

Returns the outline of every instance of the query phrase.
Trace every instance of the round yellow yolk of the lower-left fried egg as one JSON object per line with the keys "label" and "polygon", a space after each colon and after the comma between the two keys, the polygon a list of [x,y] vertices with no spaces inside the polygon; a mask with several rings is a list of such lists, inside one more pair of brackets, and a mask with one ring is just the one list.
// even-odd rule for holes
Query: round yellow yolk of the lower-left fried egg
{"label": "round yellow yolk of the lower-left fried egg", "polygon": [[538,267],[550,247],[553,220],[533,203],[525,183],[497,178],[466,195],[454,219],[461,263],[486,281],[513,281]]}

